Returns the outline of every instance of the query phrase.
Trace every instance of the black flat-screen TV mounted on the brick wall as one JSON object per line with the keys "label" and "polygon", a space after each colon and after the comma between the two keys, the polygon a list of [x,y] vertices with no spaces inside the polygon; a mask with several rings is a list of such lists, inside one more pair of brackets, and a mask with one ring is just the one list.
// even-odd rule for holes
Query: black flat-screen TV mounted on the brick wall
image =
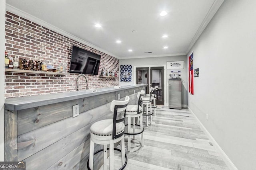
{"label": "black flat-screen TV mounted on the brick wall", "polygon": [[73,45],[70,73],[98,75],[100,67],[100,55],[81,49]]}

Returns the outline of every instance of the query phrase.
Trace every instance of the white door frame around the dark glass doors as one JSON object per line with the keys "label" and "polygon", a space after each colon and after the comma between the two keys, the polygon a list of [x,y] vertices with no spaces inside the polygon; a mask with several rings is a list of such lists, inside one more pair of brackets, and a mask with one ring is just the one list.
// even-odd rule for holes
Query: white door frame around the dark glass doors
{"label": "white door frame around the dark glass doors", "polygon": [[[159,65],[134,65],[134,67],[133,67],[133,72],[135,73],[136,72],[136,68],[138,68],[138,67],[164,67],[164,96],[165,96],[165,98],[164,98],[164,106],[167,106],[167,103],[166,103],[166,101],[167,101],[167,99],[166,99],[166,92],[167,92],[167,85],[168,85],[168,82],[167,82],[167,80],[166,80],[166,72],[167,72],[167,70],[166,70],[166,64],[159,64]],[[150,74],[150,72],[148,73],[148,74]],[[149,76],[151,76],[151,75],[149,75]],[[136,75],[134,75],[134,77],[133,77],[133,81],[134,81],[134,84],[136,83]]]}

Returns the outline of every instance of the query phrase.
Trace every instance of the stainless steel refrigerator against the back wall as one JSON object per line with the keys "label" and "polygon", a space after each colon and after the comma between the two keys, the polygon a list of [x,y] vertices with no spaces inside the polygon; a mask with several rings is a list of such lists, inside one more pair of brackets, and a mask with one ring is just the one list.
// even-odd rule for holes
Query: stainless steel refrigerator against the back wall
{"label": "stainless steel refrigerator against the back wall", "polygon": [[181,109],[181,79],[169,79],[169,108]]}

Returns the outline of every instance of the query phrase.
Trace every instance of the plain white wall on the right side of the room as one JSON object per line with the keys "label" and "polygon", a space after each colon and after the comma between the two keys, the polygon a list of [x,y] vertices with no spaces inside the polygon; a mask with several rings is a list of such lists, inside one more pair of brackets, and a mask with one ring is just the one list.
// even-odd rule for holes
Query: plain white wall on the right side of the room
{"label": "plain white wall on the right side of the room", "polygon": [[200,71],[188,106],[238,170],[256,167],[255,49],[256,1],[225,0],[188,53]]}

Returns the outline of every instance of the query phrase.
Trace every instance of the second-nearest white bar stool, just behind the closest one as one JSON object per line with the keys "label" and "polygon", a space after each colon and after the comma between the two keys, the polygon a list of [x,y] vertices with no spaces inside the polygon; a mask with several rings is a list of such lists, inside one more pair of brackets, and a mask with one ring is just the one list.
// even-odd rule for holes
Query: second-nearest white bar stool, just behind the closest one
{"label": "second-nearest white bar stool, just behind the closest one", "polygon": [[[138,105],[128,105],[126,108],[126,117],[128,119],[128,132],[124,133],[126,135],[128,135],[128,152],[130,152],[131,149],[131,135],[133,135],[133,139],[135,139],[134,135],[138,135],[141,134],[141,145],[142,147],[144,146],[144,139],[143,139],[143,125],[142,125],[142,101],[141,98],[142,96],[144,96],[145,92],[144,90],[141,90],[141,92],[138,92],[137,94],[137,98],[138,98]],[[135,117],[137,117],[137,119],[140,119],[140,125],[139,124],[135,124]],[[131,119],[132,119],[132,124],[131,124]],[[131,125],[133,126],[133,133],[131,133]],[[140,127],[140,132],[135,133],[135,126],[139,126]]]}

